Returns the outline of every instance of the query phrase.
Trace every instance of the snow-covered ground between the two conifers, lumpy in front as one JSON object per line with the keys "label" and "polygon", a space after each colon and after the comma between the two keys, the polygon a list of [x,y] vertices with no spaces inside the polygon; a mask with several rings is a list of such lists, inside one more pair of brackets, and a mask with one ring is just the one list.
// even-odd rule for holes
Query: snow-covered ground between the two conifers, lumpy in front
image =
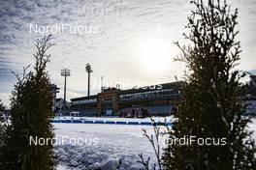
{"label": "snow-covered ground between the two conifers, lumpy in front", "polygon": [[[158,119],[164,120],[163,118]],[[151,162],[156,163],[153,149],[142,131],[142,128],[145,128],[149,134],[153,134],[151,126],[58,123],[53,124],[53,127],[58,137],[65,136],[66,139],[63,145],[55,146],[55,153],[59,161],[58,170],[140,169],[142,166],[138,163],[140,160],[138,155],[141,153],[145,157],[151,156]],[[249,129],[256,129],[256,120],[253,121]],[[255,133],[253,138],[256,139]],[[76,139],[83,139],[82,145],[78,145]],[[74,145],[75,143],[77,145]]]}

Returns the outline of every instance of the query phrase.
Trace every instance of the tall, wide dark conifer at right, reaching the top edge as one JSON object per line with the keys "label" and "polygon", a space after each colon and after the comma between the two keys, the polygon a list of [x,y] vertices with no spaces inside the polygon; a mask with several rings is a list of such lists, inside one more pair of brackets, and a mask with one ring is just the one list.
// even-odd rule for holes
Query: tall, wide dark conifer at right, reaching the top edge
{"label": "tall, wide dark conifer at right, reaching the top edge", "polygon": [[[170,131],[163,155],[165,169],[171,170],[252,170],[255,145],[246,126],[240,98],[238,10],[226,1],[192,0],[195,10],[188,17],[189,45],[176,44],[188,71],[181,85],[182,100],[176,123]],[[174,139],[195,136],[191,144],[175,145]],[[202,140],[205,143],[202,144]],[[213,144],[207,145],[210,138]],[[218,140],[220,140],[218,142]],[[173,142],[173,144],[171,143]],[[190,140],[191,142],[191,140]]]}

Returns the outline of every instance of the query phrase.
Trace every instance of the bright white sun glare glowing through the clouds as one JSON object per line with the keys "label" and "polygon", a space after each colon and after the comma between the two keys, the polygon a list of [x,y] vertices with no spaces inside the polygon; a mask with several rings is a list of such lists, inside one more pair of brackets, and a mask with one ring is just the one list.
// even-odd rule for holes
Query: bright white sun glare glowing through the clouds
{"label": "bright white sun glare glowing through the clouds", "polygon": [[174,57],[171,43],[156,37],[139,42],[138,57],[142,69],[150,73],[170,71]]}

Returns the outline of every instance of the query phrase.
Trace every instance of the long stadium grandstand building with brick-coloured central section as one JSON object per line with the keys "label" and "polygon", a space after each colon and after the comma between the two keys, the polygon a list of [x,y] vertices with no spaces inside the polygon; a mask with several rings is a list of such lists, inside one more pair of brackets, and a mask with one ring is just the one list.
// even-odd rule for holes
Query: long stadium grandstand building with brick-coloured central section
{"label": "long stadium grandstand building with brick-coloured central section", "polygon": [[71,99],[69,110],[80,112],[80,116],[170,115],[176,110],[176,102],[181,97],[178,83],[172,82],[128,90],[107,88],[97,95]]}

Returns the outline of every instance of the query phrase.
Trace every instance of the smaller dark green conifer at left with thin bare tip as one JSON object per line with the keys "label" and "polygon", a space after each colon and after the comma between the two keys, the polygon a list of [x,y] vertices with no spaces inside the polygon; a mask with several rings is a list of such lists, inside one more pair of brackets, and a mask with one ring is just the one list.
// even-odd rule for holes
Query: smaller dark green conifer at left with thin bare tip
{"label": "smaller dark green conifer at left with thin bare tip", "polygon": [[12,130],[9,139],[9,154],[6,156],[6,169],[50,170],[55,169],[52,145],[32,145],[33,138],[52,138],[53,131],[50,118],[52,95],[48,71],[46,71],[50,55],[46,52],[52,45],[51,36],[38,40],[37,52],[34,54],[36,64],[34,71],[26,73],[17,83],[11,99]]}

